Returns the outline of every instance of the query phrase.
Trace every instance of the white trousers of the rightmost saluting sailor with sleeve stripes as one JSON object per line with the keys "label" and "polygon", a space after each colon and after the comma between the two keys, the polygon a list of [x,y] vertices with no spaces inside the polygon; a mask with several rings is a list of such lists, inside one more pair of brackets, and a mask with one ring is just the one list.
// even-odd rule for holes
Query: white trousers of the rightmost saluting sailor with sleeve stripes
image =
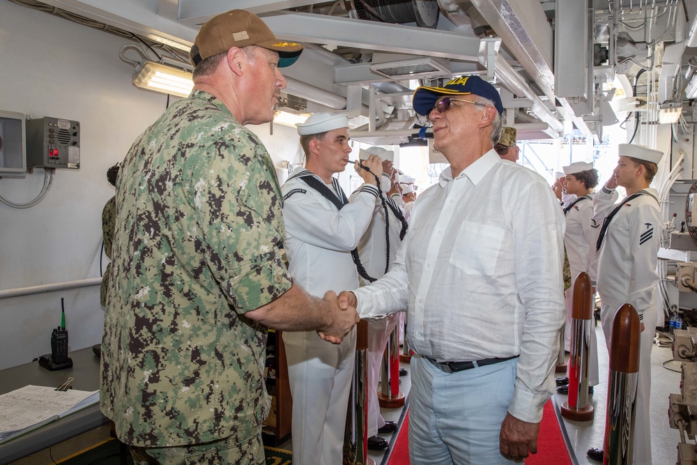
{"label": "white trousers of the rightmost saluting sailor with sleeve stripes", "polygon": [[[651,418],[649,400],[651,399],[651,349],[655,333],[655,296],[648,309],[644,311],[644,330],[641,332],[639,352],[639,372],[636,386],[636,416],[634,418],[634,465],[651,465]],[[605,342],[610,350],[610,335],[613,320],[618,309],[603,304],[600,319],[605,333]]]}

